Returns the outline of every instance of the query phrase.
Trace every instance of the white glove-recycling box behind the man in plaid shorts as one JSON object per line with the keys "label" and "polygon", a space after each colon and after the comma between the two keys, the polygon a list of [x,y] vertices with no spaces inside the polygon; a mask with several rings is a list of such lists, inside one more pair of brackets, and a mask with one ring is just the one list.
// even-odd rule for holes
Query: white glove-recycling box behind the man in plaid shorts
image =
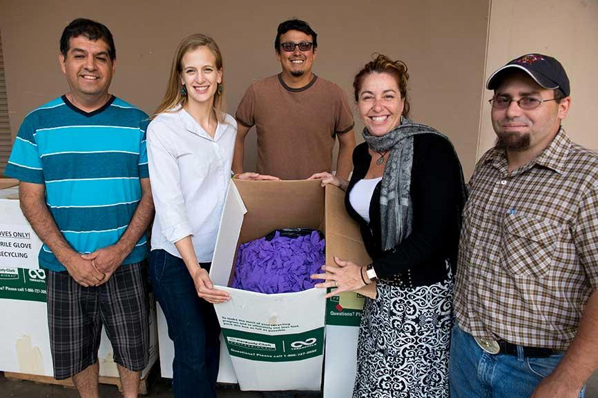
{"label": "white glove-recycling box behind the man in plaid shorts", "polygon": [[[50,355],[46,272],[39,269],[41,241],[19,207],[19,190],[0,190],[0,370],[54,376]],[[150,361],[145,377],[157,360],[155,301],[150,299]],[[113,348],[102,330],[98,350],[99,375],[118,377]]]}

